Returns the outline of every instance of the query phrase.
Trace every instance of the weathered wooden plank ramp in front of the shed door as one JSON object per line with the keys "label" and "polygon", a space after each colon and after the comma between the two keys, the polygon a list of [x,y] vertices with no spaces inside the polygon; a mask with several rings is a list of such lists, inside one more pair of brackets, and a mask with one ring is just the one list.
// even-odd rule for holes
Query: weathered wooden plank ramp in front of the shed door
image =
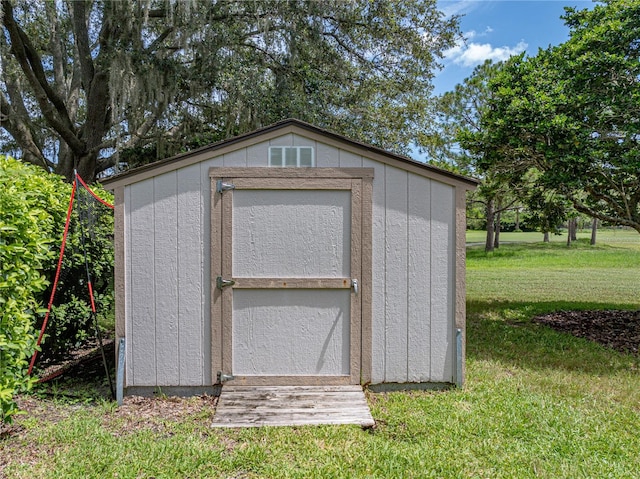
{"label": "weathered wooden plank ramp in front of the shed door", "polygon": [[357,424],[373,427],[360,386],[224,386],[213,427]]}

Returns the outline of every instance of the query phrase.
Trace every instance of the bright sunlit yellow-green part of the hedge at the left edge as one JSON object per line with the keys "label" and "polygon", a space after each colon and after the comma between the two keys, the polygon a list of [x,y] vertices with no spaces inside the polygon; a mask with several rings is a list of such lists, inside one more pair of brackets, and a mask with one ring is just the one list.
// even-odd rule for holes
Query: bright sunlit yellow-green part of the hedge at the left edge
{"label": "bright sunlit yellow-green part of the hedge at the left edge", "polygon": [[[55,257],[52,188],[35,168],[0,156],[0,419],[17,411],[13,396],[31,387],[35,316],[47,286],[41,270]],[[55,196],[55,195],[53,195]],[[53,208],[52,208],[53,209]]]}

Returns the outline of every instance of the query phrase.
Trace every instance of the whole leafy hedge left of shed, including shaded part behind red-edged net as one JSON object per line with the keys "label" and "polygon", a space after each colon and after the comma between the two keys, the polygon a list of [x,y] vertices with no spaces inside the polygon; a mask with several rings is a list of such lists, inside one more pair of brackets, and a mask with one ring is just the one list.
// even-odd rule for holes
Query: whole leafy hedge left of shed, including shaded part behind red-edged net
{"label": "whole leafy hedge left of shed, including shaded part behind red-edged net", "polygon": [[[106,192],[96,190],[110,200]],[[71,185],[61,177],[0,156],[1,422],[17,411],[14,395],[32,385],[27,367],[44,319],[42,306],[53,286],[70,194]],[[45,357],[64,354],[92,331],[83,233],[96,307],[110,309],[113,215],[95,202],[81,202],[74,208],[55,307],[42,344]]]}

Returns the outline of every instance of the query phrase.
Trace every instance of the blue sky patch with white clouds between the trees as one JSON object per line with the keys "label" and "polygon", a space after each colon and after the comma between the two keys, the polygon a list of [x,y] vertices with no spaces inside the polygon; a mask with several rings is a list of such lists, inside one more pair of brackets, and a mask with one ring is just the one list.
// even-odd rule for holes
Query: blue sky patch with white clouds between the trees
{"label": "blue sky patch with white clouds between the trees", "polygon": [[569,29],[560,16],[564,7],[592,8],[591,0],[438,0],[447,16],[463,15],[460,26],[466,42],[452,48],[444,69],[434,80],[435,94],[453,90],[476,65],[490,58],[505,60],[526,51],[559,45]]}

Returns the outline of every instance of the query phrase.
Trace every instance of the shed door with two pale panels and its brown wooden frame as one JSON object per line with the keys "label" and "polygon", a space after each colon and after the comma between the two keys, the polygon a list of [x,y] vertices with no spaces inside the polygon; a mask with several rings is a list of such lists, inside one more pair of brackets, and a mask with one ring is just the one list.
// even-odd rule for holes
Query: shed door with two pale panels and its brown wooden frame
{"label": "shed door with two pale panels and its brown wooden frame", "polygon": [[360,383],[363,180],[353,176],[328,168],[212,168],[218,379]]}

